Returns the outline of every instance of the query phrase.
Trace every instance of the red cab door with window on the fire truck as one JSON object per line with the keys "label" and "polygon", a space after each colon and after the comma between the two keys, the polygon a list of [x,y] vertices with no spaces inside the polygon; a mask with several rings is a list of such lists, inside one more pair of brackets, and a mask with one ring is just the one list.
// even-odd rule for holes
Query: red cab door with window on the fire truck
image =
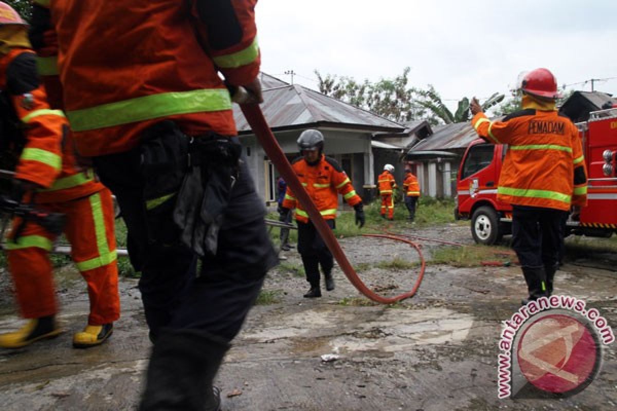
{"label": "red cab door with window on the fire truck", "polygon": [[481,143],[471,145],[461,163],[457,183],[458,210],[470,213],[478,197],[497,194],[497,168],[493,164],[495,145]]}

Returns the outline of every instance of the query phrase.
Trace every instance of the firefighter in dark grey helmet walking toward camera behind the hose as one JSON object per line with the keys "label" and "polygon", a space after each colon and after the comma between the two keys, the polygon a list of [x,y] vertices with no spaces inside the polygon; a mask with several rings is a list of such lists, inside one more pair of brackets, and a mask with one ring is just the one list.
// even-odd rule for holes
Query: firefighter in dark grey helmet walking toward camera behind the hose
{"label": "firefighter in dark grey helmet walking toward camera behind the hose", "polygon": [[[300,134],[297,143],[302,157],[294,160],[292,167],[328,226],[331,229],[335,227],[339,193],[350,206],[354,207],[356,224],[360,227],[364,226],[362,199],[355,192],[354,186],[339,163],[334,158],[323,155],[321,132],[312,129],[305,130]],[[288,187],[283,200],[283,211],[291,213],[292,208],[296,208],[298,252],[302,257],[307,282],[310,285],[304,297],[321,297],[319,266],[326,280],[326,290],[332,291],[334,290],[332,277],[334,259],[313,222],[309,220],[309,214],[304,211]]]}

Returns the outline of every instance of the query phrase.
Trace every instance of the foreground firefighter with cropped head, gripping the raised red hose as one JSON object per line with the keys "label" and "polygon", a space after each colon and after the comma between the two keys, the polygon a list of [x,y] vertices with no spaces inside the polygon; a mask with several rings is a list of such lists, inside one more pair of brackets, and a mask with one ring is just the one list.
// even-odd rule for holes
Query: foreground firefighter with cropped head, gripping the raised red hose
{"label": "foreground firefighter with cropped head, gripping the raised red hose", "polygon": [[278,262],[228,91],[262,102],[255,2],[33,7],[37,30],[52,29],[41,36],[46,63],[57,44],[77,150],[116,195],[141,271],[154,343],[141,410],[220,409],[209,387]]}

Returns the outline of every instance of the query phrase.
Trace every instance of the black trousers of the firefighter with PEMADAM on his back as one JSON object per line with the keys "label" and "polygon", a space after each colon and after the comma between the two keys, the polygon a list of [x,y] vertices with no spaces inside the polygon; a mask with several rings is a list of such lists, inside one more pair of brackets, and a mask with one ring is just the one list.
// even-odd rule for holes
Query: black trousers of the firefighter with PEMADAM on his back
{"label": "black trousers of the firefighter with PEMADAM on his back", "polygon": [[564,214],[553,208],[512,206],[512,248],[523,269],[555,267]]}

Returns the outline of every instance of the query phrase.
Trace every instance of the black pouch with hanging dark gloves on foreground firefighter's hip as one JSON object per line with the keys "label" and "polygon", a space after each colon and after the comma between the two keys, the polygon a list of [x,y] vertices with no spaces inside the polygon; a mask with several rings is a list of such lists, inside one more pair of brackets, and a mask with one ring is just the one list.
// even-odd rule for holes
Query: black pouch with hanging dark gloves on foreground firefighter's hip
{"label": "black pouch with hanging dark gloves on foreground firefighter's hip", "polygon": [[231,190],[238,181],[240,144],[210,133],[191,139],[189,172],[184,178],[173,220],[182,229],[182,242],[200,256],[217,253]]}

